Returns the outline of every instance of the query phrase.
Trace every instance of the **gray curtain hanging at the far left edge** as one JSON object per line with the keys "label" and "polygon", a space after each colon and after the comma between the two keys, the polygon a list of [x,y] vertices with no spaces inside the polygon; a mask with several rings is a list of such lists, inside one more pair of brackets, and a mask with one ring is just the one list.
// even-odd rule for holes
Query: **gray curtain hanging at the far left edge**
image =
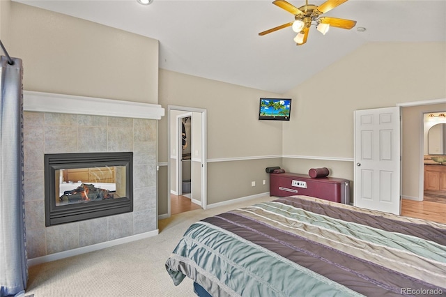
{"label": "gray curtain hanging at the far left edge", "polygon": [[28,280],[24,224],[22,60],[1,56],[0,296],[23,296]]}

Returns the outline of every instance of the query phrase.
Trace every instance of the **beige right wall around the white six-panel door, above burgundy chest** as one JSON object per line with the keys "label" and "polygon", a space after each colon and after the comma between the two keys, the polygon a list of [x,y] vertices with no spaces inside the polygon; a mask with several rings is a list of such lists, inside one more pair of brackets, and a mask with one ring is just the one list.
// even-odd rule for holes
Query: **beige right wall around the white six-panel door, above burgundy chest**
{"label": "beige right wall around the white six-panel door, above burgundy chest", "polygon": [[[445,82],[446,43],[363,45],[286,93],[293,98],[293,111],[284,123],[284,155],[353,159],[353,111],[446,98]],[[403,155],[407,150],[403,144]],[[291,171],[307,173],[328,164],[323,167],[331,176],[353,178],[353,162],[303,163],[284,160]],[[412,195],[413,189],[404,187],[418,180],[403,174],[403,193]]]}

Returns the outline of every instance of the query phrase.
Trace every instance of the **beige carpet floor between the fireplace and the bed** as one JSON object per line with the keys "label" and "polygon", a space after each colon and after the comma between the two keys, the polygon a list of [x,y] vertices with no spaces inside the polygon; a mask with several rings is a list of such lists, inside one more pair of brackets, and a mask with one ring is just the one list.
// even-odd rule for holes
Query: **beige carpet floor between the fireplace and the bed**
{"label": "beige carpet floor between the fireplace and the bed", "polygon": [[160,220],[160,234],[29,268],[26,295],[42,296],[196,296],[192,280],[174,286],[164,266],[190,224],[233,208],[274,197],[198,209]]}

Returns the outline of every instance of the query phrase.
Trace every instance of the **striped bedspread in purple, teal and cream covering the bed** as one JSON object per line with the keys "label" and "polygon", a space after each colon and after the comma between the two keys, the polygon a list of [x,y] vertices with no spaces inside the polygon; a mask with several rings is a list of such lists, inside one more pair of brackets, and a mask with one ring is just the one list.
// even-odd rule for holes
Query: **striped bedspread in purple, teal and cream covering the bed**
{"label": "striped bedspread in purple, teal and cream covering the bed", "polygon": [[166,268],[212,296],[446,296],[446,224],[284,197],[192,224]]}

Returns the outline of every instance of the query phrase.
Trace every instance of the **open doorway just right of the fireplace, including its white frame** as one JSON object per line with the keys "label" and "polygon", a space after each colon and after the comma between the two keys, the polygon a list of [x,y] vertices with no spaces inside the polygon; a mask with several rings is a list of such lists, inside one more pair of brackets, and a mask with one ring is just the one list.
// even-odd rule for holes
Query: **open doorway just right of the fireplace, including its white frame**
{"label": "open doorway just right of the fireplace, including its white frame", "polygon": [[168,215],[206,209],[206,109],[168,106]]}

